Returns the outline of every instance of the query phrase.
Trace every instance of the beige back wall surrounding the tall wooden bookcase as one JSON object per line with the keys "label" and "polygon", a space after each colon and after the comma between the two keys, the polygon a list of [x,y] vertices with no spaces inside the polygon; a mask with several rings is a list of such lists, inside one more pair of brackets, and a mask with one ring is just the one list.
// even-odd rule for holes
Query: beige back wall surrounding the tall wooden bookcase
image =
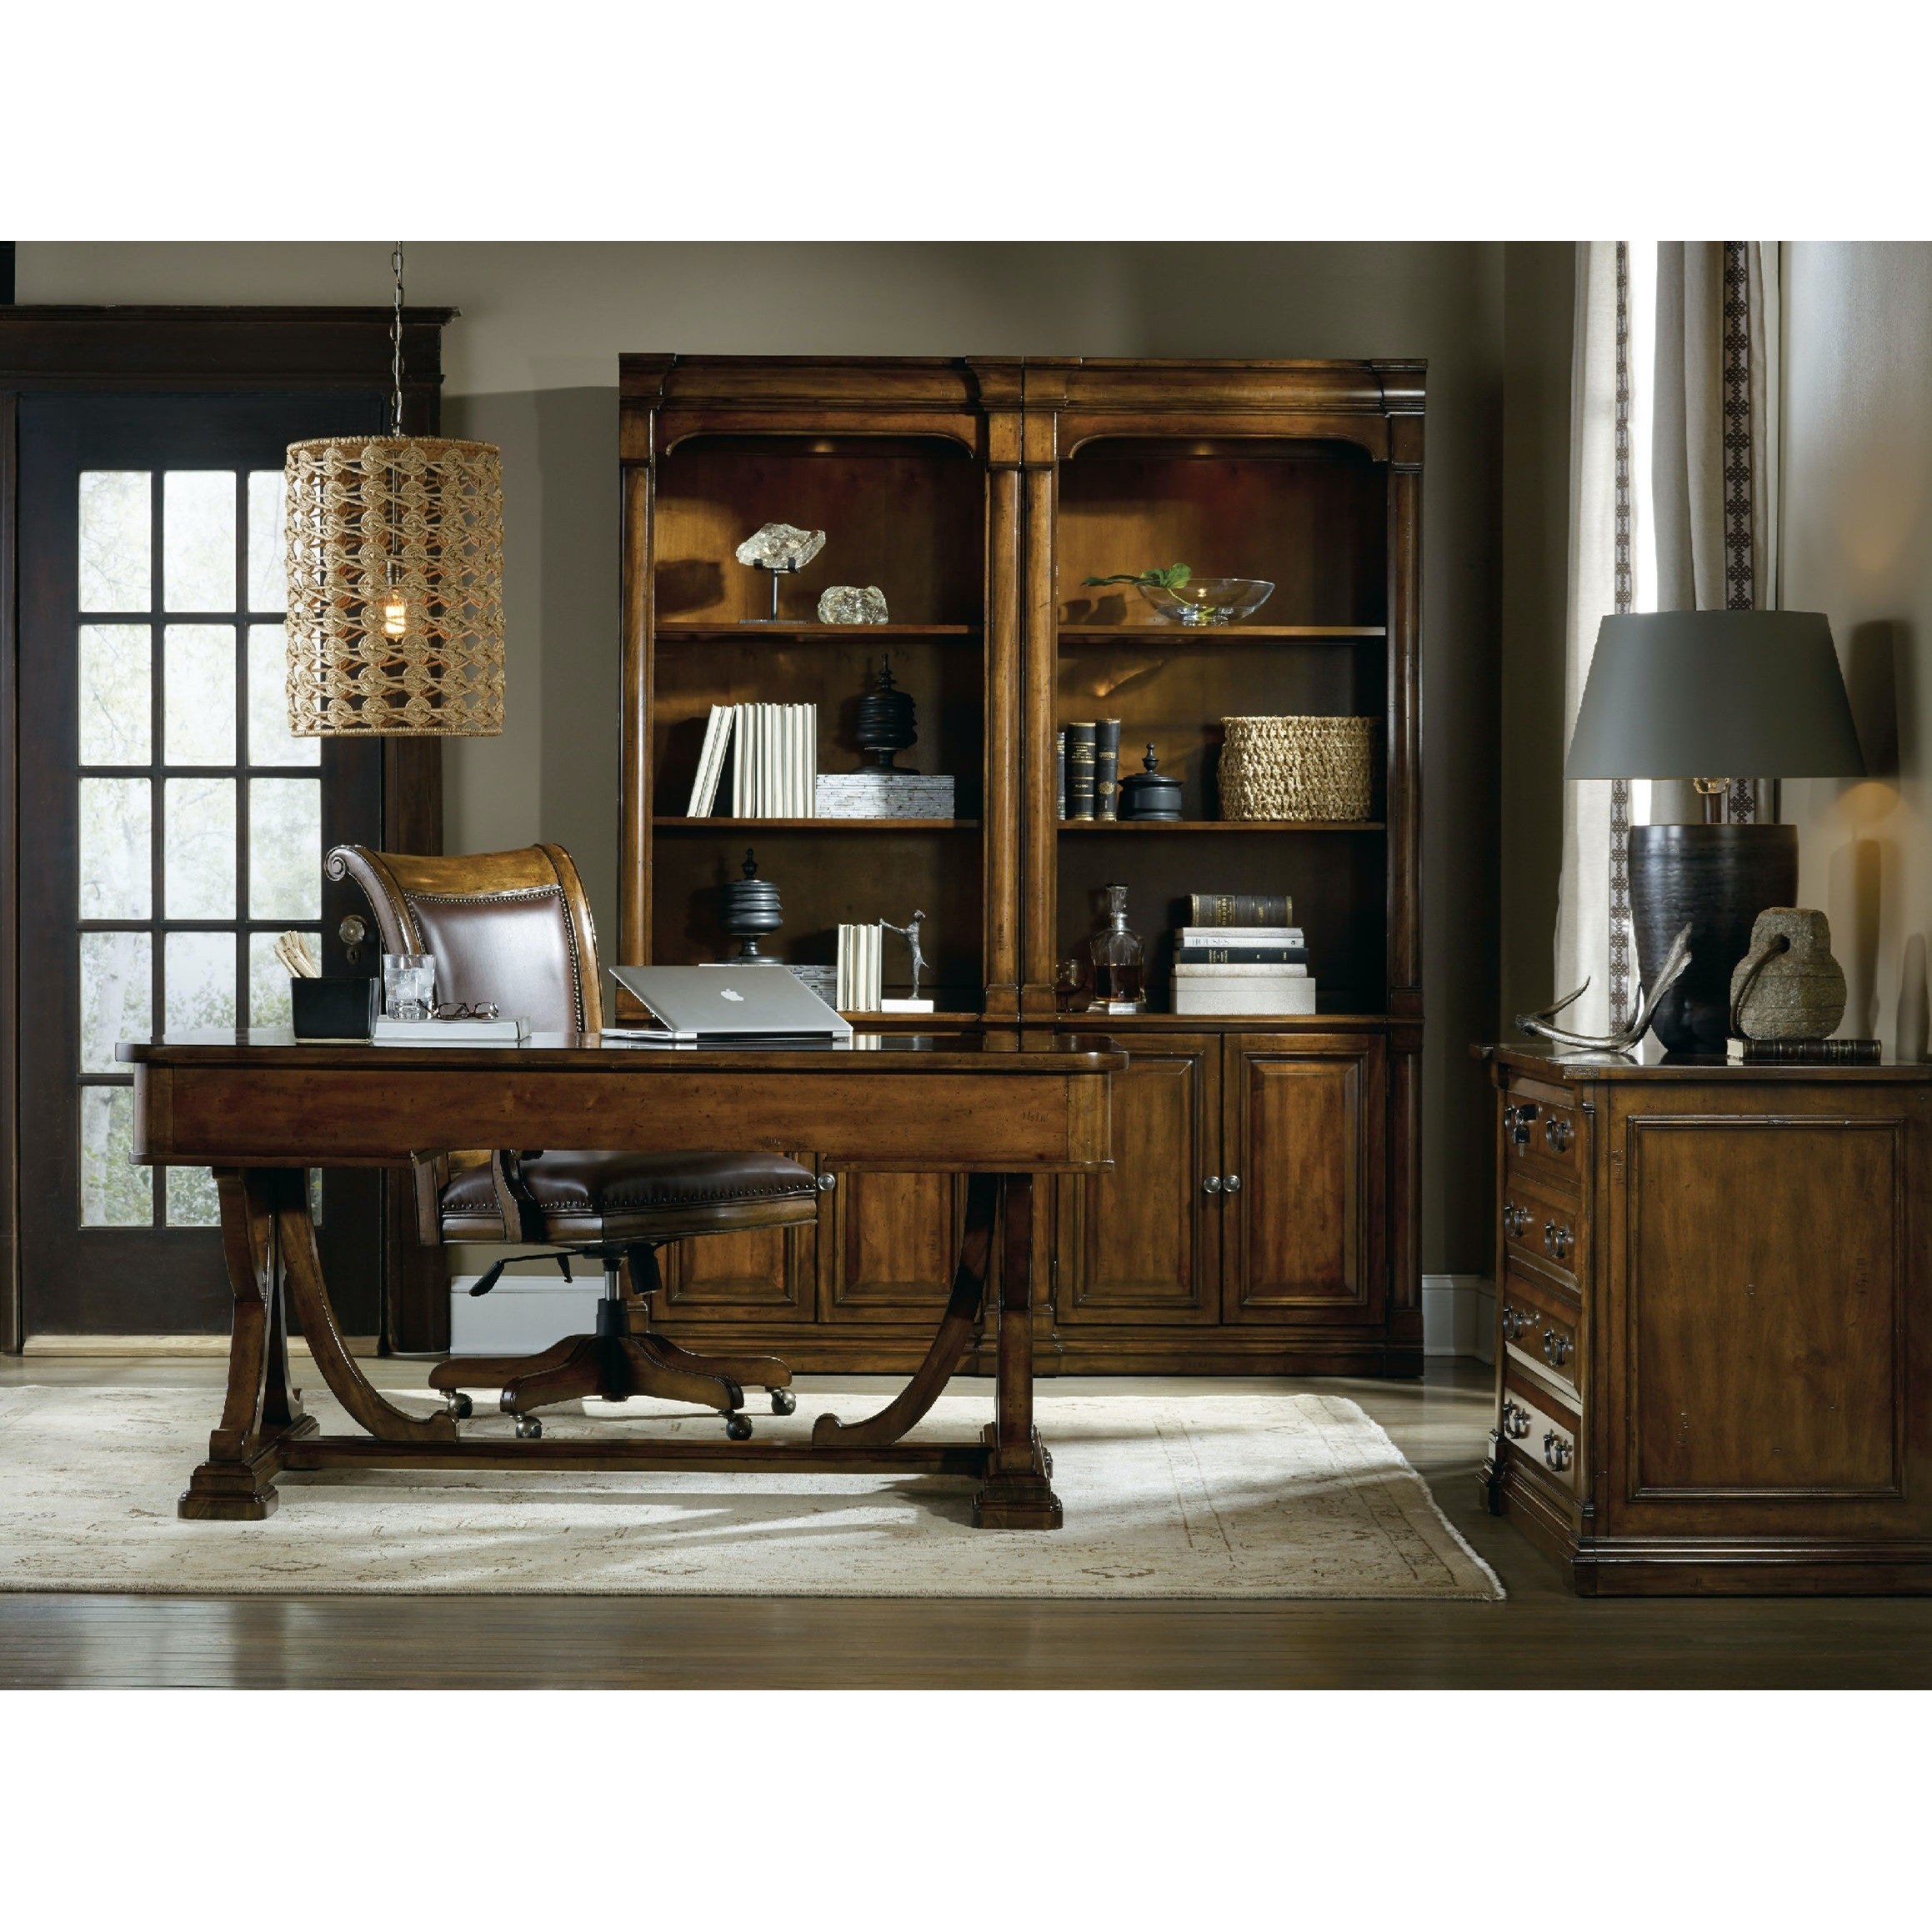
{"label": "beige back wall surrounding the tall wooden bookcase", "polygon": [[[384,301],[386,243],[21,243],[21,301]],[[508,724],[452,746],[448,844],[576,852],[616,910],[616,357],[1426,355],[1422,1265],[1488,1265],[1468,1041],[1495,1014],[1499,243],[412,243],[444,425],[502,444]]]}

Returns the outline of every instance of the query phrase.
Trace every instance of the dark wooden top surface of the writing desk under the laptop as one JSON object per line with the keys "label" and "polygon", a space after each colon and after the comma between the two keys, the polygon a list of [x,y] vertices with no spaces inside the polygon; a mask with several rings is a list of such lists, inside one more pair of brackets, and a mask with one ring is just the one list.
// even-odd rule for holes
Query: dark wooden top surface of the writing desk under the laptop
{"label": "dark wooden top surface of the writing desk under the laptop", "polygon": [[[1051,1037],[1051,1036],[1043,1036]],[[1126,1053],[1105,1034],[1061,1036],[1051,1045],[1020,1045],[1012,1036],[866,1034],[846,1045],[670,1047],[597,1034],[531,1034],[520,1047],[375,1047],[361,1041],[296,1039],[286,1026],[201,1028],[158,1039],[124,1039],[114,1057],[135,1066],[328,1066],[336,1070],[466,1066],[638,1072],[866,1072],[866,1074],[1115,1074]]]}

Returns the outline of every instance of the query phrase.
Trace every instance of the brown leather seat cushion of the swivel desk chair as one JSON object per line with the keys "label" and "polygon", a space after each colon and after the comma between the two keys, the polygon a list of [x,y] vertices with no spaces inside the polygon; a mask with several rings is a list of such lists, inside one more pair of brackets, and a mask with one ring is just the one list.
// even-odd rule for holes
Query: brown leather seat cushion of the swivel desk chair
{"label": "brown leather seat cushion of the swivel desk chair", "polygon": [[[645,1240],[788,1227],[817,1215],[819,1182],[782,1153],[599,1153],[549,1150],[520,1163],[545,1240]],[[454,1175],[444,1235],[498,1219],[489,1167]],[[466,1229],[469,1223],[469,1229]]]}

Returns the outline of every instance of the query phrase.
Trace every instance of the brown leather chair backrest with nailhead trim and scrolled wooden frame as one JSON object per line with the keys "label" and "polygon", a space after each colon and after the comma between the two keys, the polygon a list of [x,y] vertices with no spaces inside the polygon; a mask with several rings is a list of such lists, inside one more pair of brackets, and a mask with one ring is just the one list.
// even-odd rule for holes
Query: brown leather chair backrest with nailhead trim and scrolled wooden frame
{"label": "brown leather chair backrest with nailhead trim and scrolled wooden frame", "polygon": [[466,858],[336,846],[325,866],[363,889],[384,952],[435,954],[439,1001],[495,1001],[537,1034],[603,1026],[597,933],[562,846]]}

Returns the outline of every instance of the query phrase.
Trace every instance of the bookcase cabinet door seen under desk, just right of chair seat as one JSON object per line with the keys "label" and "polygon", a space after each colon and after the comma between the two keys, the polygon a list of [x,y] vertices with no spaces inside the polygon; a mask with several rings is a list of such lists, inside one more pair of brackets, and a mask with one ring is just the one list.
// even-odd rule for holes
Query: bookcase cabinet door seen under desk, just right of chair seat
{"label": "bookcase cabinet door seen under desk, just right of chair seat", "polygon": [[964,1200],[958,1175],[840,1173],[825,1244],[825,1320],[931,1320],[952,1289]]}

